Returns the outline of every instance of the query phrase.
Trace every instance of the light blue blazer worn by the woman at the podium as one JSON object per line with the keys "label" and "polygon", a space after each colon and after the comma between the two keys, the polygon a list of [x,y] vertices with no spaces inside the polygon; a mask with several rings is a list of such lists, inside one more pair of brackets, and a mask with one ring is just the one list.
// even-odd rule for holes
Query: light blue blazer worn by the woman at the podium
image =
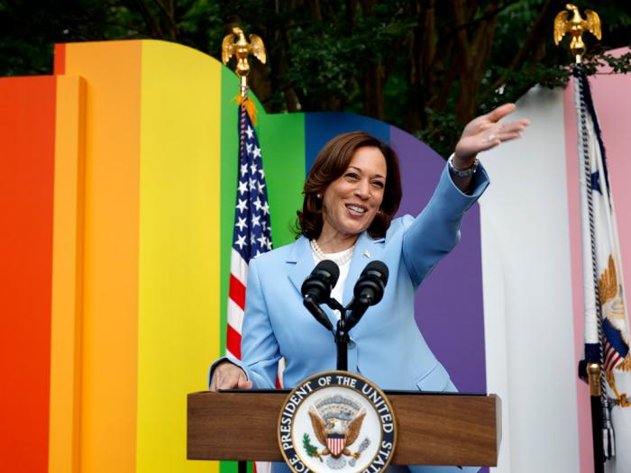
{"label": "light blue blazer worn by the woman at the podium", "polygon": [[[386,263],[389,281],[381,302],[370,307],[350,332],[349,370],[361,373],[382,389],[456,390],[418,330],[415,292],[434,265],[460,240],[462,215],[488,185],[489,177],[480,166],[473,179],[473,192],[466,196],[454,186],[445,167],[434,196],[416,218],[406,215],[393,220],[385,238],[375,240],[367,232],[361,233],[340,302],[351,302],[361,270],[374,259]],[[305,237],[250,261],[242,360],[230,360],[245,371],[254,388],[275,387],[281,357],[286,362],[283,385],[288,388],[336,367],[333,333],[302,304],[300,287],[314,267]],[[323,308],[335,327],[335,315],[328,307]],[[211,367],[209,383],[213,368],[224,359],[218,359]],[[394,470],[405,468],[413,473],[478,470],[411,465]],[[290,470],[284,463],[275,463],[273,473]]]}

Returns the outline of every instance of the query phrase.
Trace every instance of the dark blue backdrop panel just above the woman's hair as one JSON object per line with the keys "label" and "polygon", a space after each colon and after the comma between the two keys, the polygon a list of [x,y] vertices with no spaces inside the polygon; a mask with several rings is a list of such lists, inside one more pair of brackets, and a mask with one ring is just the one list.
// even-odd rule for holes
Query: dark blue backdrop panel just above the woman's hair
{"label": "dark blue backdrop panel just above the woman's hair", "polygon": [[305,175],[326,141],[345,132],[367,132],[381,141],[390,141],[387,123],[361,115],[335,112],[305,114]]}

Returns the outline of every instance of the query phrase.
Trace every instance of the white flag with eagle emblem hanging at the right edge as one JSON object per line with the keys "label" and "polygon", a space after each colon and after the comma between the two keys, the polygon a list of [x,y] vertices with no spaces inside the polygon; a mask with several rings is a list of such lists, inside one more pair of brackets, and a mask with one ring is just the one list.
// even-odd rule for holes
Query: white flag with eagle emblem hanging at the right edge
{"label": "white flag with eagle emblem hanging at the right edge", "polygon": [[[598,116],[584,73],[575,69],[581,161],[586,353],[603,371],[605,470],[631,471],[631,353],[614,202]],[[628,256],[628,255],[627,255]]]}

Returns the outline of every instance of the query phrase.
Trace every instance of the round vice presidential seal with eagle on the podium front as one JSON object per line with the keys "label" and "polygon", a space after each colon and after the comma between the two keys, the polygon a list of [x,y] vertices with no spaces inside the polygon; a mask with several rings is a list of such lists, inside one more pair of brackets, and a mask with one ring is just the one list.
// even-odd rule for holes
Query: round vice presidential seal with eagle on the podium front
{"label": "round vice presidential seal with eagle on the podium front", "polygon": [[396,444],[388,399],[355,373],[307,378],[280,411],[279,447],[295,473],[378,473],[388,467]]}

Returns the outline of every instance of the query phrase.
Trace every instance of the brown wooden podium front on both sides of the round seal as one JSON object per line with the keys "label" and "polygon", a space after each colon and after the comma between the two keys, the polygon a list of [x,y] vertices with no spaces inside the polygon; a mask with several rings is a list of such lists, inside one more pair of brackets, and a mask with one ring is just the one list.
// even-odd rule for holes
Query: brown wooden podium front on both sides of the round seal
{"label": "brown wooden podium front on both sides of the round seal", "polygon": [[[288,390],[188,395],[187,458],[283,461],[277,428]],[[501,439],[496,395],[385,391],[398,425],[394,465],[494,467]]]}

